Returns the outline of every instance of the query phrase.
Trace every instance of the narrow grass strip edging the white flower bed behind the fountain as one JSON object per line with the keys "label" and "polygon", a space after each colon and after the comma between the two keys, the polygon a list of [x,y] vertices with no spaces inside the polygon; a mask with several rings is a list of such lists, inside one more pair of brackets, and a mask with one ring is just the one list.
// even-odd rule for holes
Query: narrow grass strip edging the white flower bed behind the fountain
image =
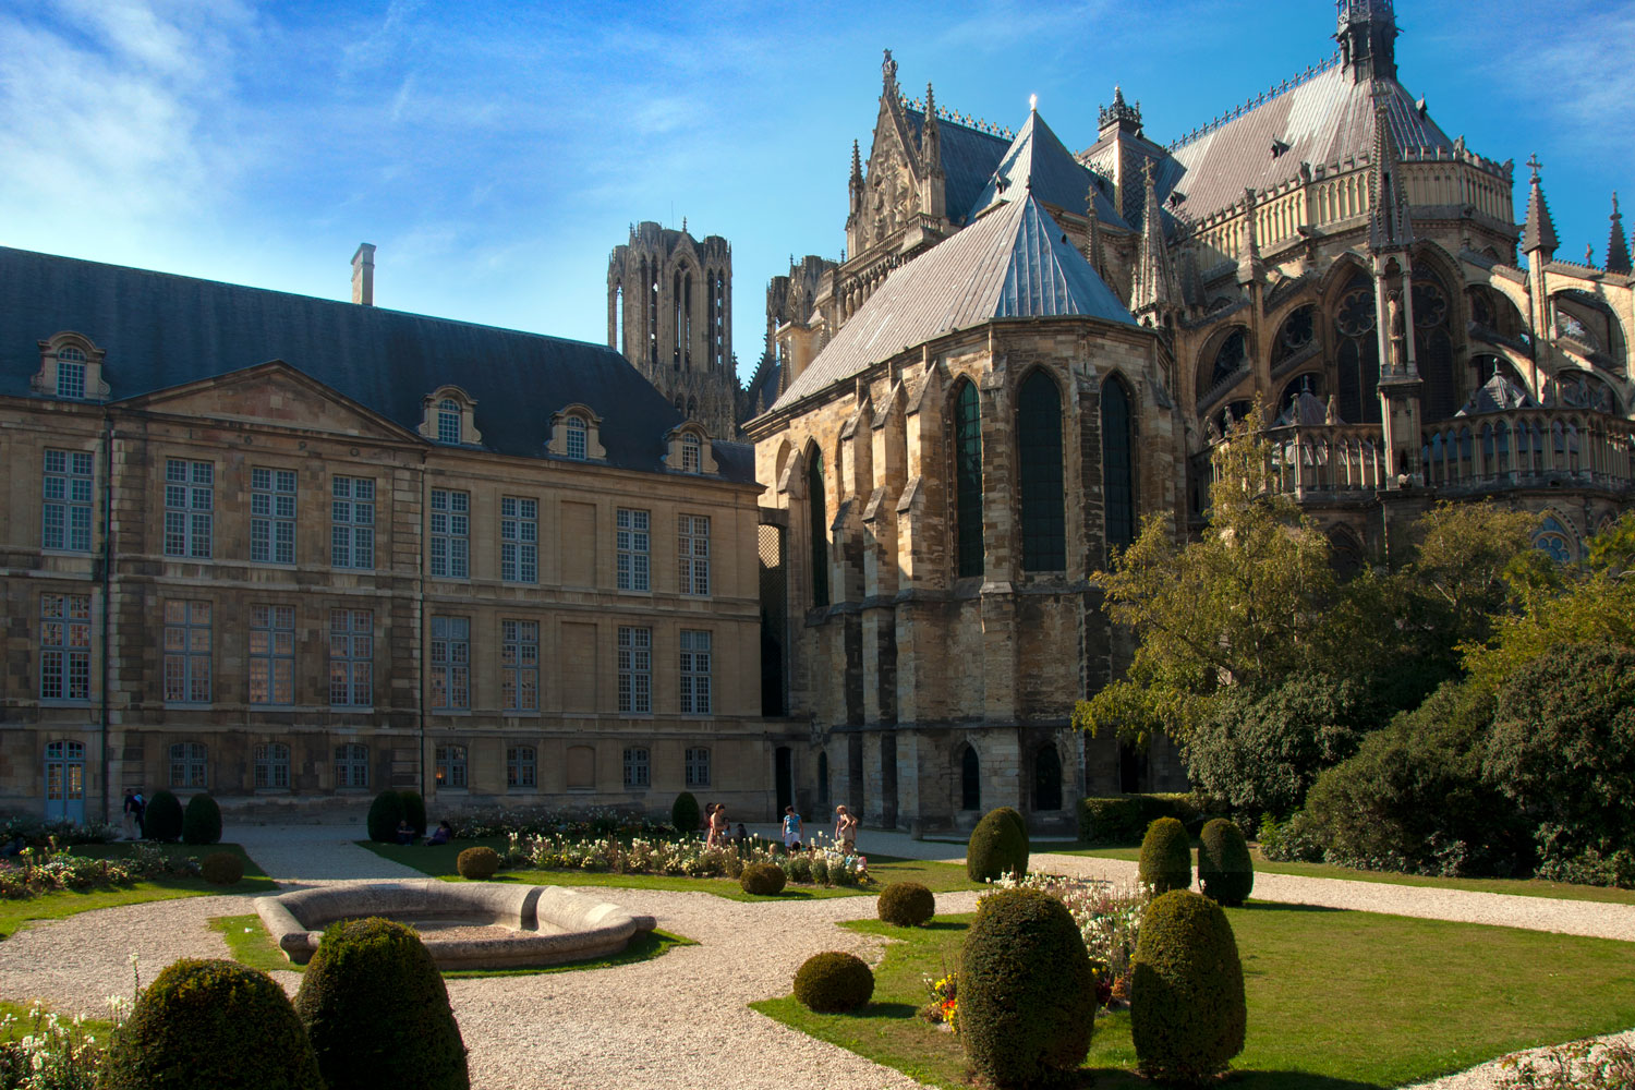
{"label": "narrow grass strip edging the white flower bed behind the fountain", "polygon": [[[410,866],[422,874],[430,874],[432,878],[441,878],[443,881],[459,882],[459,873],[455,868],[455,860],[466,848],[477,845],[487,845],[495,850],[505,847],[505,840],[500,837],[489,837],[484,840],[455,840],[446,845],[437,845],[432,848],[425,847],[404,847],[394,843],[371,843],[366,840],[358,842],[361,847],[374,851],[379,856],[392,860],[394,863],[402,863]],[[729,878],[682,878],[670,874],[608,874],[605,871],[500,871],[494,879],[497,882],[523,882],[528,886],[613,886],[623,889],[665,889],[665,891],[682,891],[682,892],[705,892],[714,894],[716,897],[726,897],[729,900],[816,900],[822,897],[857,897],[857,896],[878,896],[886,882],[919,882],[930,889],[932,892],[950,892],[958,889],[983,889],[983,886],[973,882],[965,876],[963,863],[930,863],[927,860],[899,860],[896,856],[871,855],[868,856],[868,873],[873,876],[873,882],[863,887],[850,886],[801,886],[791,882],[777,897],[757,897],[754,894],[746,894],[739,889],[737,882]]]}

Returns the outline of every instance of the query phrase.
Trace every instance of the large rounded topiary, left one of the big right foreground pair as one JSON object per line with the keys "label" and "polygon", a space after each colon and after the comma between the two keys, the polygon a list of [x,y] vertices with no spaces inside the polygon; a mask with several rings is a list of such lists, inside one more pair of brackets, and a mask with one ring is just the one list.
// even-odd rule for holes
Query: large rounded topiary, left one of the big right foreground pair
{"label": "large rounded topiary, left one of the big right foreground pair", "polygon": [[983,897],[960,963],[960,1041],[996,1087],[1076,1069],[1095,1030],[1095,976],[1068,909],[1037,889]]}

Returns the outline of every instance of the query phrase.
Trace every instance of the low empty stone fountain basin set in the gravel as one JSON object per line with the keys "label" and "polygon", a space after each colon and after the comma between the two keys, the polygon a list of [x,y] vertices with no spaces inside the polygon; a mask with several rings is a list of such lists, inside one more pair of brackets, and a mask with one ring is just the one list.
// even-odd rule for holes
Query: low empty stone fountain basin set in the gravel
{"label": "low empty stone fountain basin set in the gravel", "polygon": [[440,969],[528,969],[616,954],[651,915],[559,886],[443,882],[435,878],[337,882],[257,897],[267,931],[298,966],[337,920],[381,915],[409,923]]}

